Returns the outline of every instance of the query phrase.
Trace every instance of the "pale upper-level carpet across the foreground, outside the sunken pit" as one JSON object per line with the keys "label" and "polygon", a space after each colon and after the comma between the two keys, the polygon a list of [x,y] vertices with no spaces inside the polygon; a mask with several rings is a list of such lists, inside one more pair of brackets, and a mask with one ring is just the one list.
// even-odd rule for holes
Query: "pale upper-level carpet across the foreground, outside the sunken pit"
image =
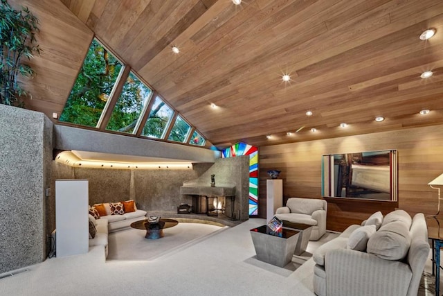
{"label": "pale upper-level carpet across the foreground, outside the sunken pit", "polygon": [[[105,261],[103,247],[91,247],[87,254],[47,259],[0,279],[0,295],[315,296],[309,253],[336,234],[328,232],[320,242],[309,242],[303,254],[306,262],[288,270],[255,259],[249,229],[264,223],[249,219],[151,261]],[[428,260],[425,275],[431,266]],[[433,278],[424,277],[418,295],[430,296],[432,291]]]}

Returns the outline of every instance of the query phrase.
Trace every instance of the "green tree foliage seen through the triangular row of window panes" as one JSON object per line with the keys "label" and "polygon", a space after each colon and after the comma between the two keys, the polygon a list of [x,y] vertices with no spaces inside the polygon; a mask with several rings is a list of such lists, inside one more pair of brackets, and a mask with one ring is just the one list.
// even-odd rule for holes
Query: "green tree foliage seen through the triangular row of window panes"
{"label": "green tree foliage seen through the triangular row of window panes", "polygon": [[[60,121],[96,127],[122,67],[114,55],[94,39],[64,106]],[[138,80],[134,73],[129,73],[111,112],[107,130],[134,132],[151,93],[152,90]],[[161,139],[173,113],[174,111],[161,98],[156,97],[141,134]],[[189,130],[190,125],[177,116],[168,139],[183,143]],[[194,144],[201,145],[204,139],[200,138],[201,136],[196,136]]]}

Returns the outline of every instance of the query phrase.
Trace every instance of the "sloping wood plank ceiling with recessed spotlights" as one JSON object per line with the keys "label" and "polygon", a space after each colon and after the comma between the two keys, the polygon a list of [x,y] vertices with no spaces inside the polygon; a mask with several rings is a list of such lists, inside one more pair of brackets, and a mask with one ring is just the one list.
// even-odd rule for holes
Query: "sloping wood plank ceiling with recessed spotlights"
{"label": "sloping wood plank ceiling with recessed spotlights", "polygon": [[[219,148],[443,123],[440,0],[62,3]],[[428,28],[435,36],[419,40]],[[433,76],[420,78],[428,70]],[[64,83],[70,89],[73,80]],[[44,112],[66,103],[62,96],[35,100]],[[431,112],[421,116],[423,109]]]}

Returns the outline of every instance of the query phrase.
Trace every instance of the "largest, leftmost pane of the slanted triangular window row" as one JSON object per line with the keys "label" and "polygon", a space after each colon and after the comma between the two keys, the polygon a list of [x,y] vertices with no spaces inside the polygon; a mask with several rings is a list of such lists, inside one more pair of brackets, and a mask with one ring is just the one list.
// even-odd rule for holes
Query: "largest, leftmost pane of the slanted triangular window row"
{"label": "largest, leftmost pane of the slanted triangular window row", "polygon": [[96,127],[122,69],[123,64],[94,39],[59,120]]}

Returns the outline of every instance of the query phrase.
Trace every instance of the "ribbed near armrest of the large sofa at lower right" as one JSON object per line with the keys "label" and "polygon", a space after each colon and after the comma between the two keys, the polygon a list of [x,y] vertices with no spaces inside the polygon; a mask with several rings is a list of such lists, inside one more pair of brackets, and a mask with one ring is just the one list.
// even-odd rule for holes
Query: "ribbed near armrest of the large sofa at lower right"
{"label": "ribbed near armrest of the large sofa at lower right", "polygon": [[349,249],[329,250],[325,272],[327,295],[341,296],[406,295],[412,278],[406,263]]}

